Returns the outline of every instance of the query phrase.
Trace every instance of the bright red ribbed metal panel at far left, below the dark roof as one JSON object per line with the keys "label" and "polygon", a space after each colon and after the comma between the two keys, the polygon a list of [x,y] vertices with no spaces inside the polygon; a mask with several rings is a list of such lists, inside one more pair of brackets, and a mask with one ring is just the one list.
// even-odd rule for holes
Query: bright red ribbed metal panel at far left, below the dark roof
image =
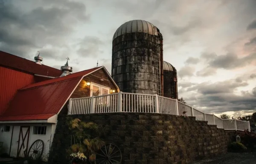
{"label": "bright red ribbed metal panel at far left, below the dark roof", "polygon": [[15,71],[0,66],[0,115],[6,110],[9,102],[17,92],[17,89],[23,88],[34,83],[34,75]]}

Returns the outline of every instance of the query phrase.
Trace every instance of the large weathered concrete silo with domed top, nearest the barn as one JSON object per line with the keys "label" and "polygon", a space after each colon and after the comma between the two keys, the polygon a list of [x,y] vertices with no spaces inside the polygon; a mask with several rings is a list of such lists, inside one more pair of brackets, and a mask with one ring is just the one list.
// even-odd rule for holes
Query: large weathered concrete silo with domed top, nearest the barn
{"label": "large weathered concrete silo with domed top, nearest the barn", "polygon": [[162,35],[145,20],[122,24],[113,36],[112,77],[120,91],[161,95]]}

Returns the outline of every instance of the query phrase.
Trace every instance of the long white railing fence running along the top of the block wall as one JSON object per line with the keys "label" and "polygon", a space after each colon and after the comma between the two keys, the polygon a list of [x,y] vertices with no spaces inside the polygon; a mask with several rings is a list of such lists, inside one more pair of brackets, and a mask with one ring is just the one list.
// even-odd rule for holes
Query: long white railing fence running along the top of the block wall
{"label": "long white railing fence running along the top of the block wall", "polygon": [[68,111],[73,114],[109,113],[109,112],[147,112],[169,115],[194,116],[196,120],[208,121],[209,125],[217,125],[225,130],[248,129],[249,121],[221,119],[213,114],[200,112],[177,99],[158,95],[136,93],[114,93],[110,95],[93,96],[87,98],[70,98]]}

